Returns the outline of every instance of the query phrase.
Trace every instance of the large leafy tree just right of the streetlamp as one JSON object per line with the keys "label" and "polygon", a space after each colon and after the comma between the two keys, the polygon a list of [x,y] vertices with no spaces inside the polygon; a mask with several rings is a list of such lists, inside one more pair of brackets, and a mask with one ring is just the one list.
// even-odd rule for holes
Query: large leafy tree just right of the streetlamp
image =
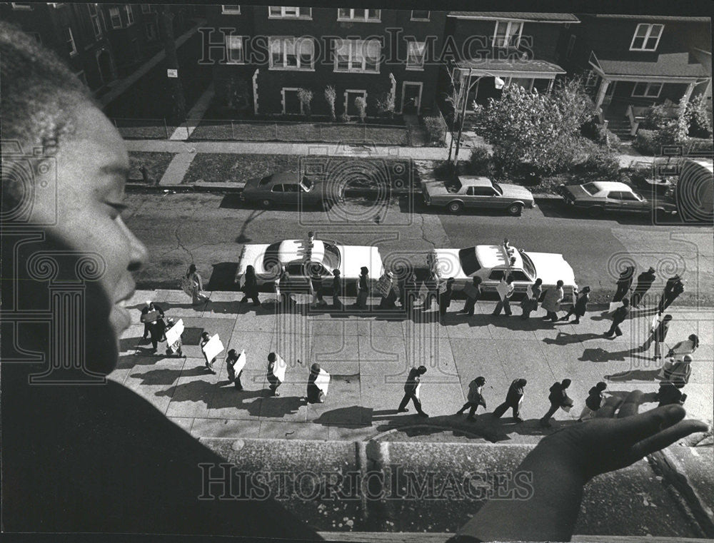
{"label": "large leafy tree just right of the streetlamp", "polygon": [[486,106],[474,103],[474,109],[501,168],[528,165],[540,173],[570,166],[580,126],[596,111],[579,78],[558,83],[548,94],[509,85],[501,98],[490,98]]}

